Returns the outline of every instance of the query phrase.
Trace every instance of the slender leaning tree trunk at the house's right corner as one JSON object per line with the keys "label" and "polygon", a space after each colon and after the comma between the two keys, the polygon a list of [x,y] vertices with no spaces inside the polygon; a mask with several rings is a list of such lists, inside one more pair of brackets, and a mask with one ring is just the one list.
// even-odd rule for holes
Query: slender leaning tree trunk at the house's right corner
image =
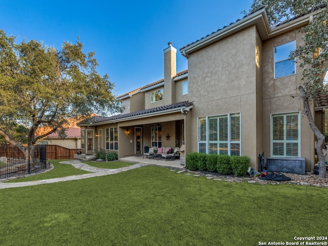
{"label": "slender leaning tree trunk at the house's right corner", "polygon": [[324,156],[322,152],[322,148],[324,145],[325,137],[324,135],[320,132],[320,130],[316,127],[312,113],[310,110],[310,104],[309,104],[309,98],[305,96],[305,90],[302,86],[298,87],[300,93],[301,93],[301,98],[303,101],[303,108],[304,108],[304,113],[306,117],[308,118],[309,125],[311,130],[313,131],[314,135],[317,137],[318,142],[317,142],[317,155],[318,155],[318,160],[319,160],[319,178],[324,178],[326,175],[326,163],[324,161]]}

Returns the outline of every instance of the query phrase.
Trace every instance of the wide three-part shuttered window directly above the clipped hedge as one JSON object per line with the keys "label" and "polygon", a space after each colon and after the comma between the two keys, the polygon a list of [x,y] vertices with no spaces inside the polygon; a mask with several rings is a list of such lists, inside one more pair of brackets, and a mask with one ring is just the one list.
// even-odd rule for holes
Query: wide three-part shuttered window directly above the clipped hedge
{"label": "wide three-part shuttered window directly above the clipped hedge", "polygon": [[240,114],[198,118],[198,152],[240,155]]}

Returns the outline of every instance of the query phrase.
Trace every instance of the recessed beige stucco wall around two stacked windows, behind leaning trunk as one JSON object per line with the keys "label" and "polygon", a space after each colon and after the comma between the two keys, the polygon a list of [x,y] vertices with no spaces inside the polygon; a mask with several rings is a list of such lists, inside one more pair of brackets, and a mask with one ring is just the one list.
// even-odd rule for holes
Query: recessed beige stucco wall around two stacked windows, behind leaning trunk
{"label": "recessed beige stucco wall around two stacked windows, behind leaning trunk", "polygon": [[274,47],[296,40],[296,46],[302,44],[302,34],[290,31],[263,42],[263,151],[271,156],[271,115],[279,113],[300,112],[300,156],[305,157],[306,171],[311,171],[314,163],[314,135],[308,120],[302,113],[302,101],[298,94],[302,71],[297,66],[296,74],[274,79]]}

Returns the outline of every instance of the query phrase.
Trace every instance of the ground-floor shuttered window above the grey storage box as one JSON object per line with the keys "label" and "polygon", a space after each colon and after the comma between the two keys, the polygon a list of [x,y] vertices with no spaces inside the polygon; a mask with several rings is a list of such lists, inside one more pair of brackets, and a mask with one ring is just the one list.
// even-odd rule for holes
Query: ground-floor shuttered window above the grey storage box
{"label": "ground-floor shuttered window above the grey storage box", "polygon": [[272,115],[271,156],[299,156],[299,113]]}

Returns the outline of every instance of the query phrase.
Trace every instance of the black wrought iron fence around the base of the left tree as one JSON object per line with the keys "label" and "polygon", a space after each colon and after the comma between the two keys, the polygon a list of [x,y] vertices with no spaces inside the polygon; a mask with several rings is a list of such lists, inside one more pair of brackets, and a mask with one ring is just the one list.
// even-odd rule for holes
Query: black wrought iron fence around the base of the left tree
{"label": "black wrought iron fence around the base of the left tree", "polygon": [[0,179],[38,173],[47,168],[46,146],[0,145]]}

